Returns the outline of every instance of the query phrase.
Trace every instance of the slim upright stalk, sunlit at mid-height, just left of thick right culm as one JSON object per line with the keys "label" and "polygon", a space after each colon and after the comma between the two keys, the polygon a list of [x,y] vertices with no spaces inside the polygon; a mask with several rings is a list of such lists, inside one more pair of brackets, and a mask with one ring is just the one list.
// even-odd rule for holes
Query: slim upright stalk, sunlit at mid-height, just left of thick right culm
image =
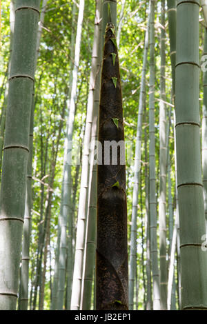
{"label": "slim upright stalk, sunlit at mid-height, just left of thick right culm", "polygon": [[166,263],[166,30],[165,0],[161,1],[160,39],[160,103],[159,103],[159,262],[160,262],[160,309],[167,310],[168,275]]}

